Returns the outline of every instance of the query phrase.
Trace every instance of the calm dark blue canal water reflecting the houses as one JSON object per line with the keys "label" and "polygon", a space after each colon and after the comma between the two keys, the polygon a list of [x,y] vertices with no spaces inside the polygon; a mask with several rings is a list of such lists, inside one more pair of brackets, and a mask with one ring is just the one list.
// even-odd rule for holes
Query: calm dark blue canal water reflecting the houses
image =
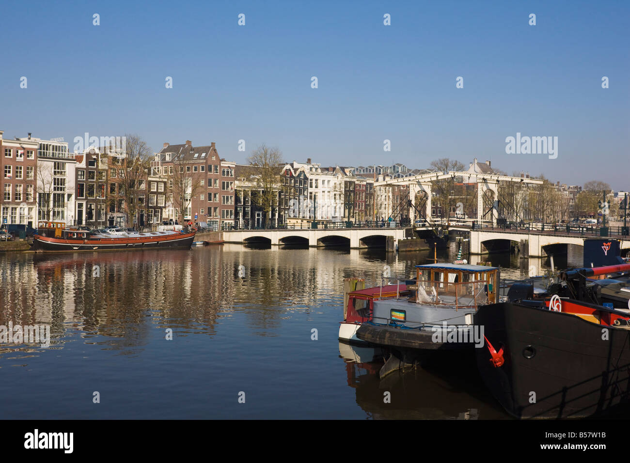
{"label": "calm dark blue canal water reflecting the houses", "polygon": [[[452,243],[438,260],[456,253]],[[4,254],[0,325],[50,324],[53,340],[0,344],[0,418],[508,418],[474,365],[381,381],[380,363],[353,362],[337,340],[343,278],[376,285],[384,265],[411,275],[432,254],[234,244]],[[548,265],[472,263],[486,260],[504,278]],[[567,265],[581,265],[580,248],[556,258]]]}

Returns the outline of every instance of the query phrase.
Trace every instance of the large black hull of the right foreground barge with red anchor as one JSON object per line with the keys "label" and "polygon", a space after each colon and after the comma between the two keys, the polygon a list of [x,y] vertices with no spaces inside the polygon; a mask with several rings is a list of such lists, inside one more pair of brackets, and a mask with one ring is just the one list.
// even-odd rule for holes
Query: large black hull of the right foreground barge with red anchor
{"label": "large black hull of the right foreground barge with red anchor", "polygon": [[500,367],[487,346],[475,352],[486,386],[512,416],[583,418],[626,409],[629,330],[507,302],[480,307],[475,324],[496,351],[503,348]]}

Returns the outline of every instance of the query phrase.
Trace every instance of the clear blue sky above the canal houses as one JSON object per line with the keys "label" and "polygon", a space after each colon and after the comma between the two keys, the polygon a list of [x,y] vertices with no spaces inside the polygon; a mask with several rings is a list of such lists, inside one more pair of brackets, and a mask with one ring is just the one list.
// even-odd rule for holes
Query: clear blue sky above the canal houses
{"label": "clear blue sky above the canal houses", "polygon": [[[214,141],[239,163],[261,143],[324,165],[477,157],[630,189],[627,1],[11,1],[2,14],[5,137]],[[517,132],[557,136],[558,158],[506,154]]]}

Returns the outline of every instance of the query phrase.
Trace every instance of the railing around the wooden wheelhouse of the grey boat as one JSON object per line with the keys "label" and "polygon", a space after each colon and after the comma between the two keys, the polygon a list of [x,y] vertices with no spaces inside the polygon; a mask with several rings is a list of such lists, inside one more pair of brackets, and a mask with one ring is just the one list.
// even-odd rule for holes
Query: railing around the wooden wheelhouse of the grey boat
{"label": "railing around the wooden wheelhouse of the grey boat", "polygon": [[417,304],[435,304],[457,309],[476,308],[488,304],[487,280],[474,282],[420,281],[416,290]]}

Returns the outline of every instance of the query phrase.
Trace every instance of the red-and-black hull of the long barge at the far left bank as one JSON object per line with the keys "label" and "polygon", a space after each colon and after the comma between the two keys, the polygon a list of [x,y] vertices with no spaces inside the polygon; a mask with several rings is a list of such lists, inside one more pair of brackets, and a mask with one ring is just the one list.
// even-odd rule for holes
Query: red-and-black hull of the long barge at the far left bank
{"label": "red-and-black hull of the long barge at the far left bank", "polygon": [[33,250],[44,252],[130,251],[135,249],[190,248],[195,232],[151,237],[60,239],[35,235]]}

